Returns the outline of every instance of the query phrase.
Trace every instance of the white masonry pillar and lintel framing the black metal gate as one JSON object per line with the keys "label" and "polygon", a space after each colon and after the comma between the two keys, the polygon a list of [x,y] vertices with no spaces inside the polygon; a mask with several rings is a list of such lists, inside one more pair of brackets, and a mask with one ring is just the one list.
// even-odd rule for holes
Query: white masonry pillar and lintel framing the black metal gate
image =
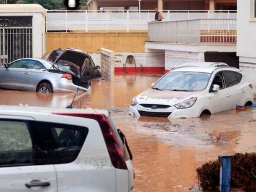
{"label": "white masonry pillar and lintel framing the black metal gate", "polygon": [[33,17],[33,57],[45,54],[45,17],[46,10],[38,4],[1,4],[0,15]]}

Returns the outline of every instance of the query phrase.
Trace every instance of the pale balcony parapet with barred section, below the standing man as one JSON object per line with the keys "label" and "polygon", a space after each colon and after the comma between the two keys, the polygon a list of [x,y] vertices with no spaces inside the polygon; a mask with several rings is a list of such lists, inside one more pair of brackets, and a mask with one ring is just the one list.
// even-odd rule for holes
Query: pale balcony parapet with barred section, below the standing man
{"label": "pale balcony parapet with barred section, below the standing man", "polygon": [[148,41],[169,43],[236,43],[236,19],[149,22]]}

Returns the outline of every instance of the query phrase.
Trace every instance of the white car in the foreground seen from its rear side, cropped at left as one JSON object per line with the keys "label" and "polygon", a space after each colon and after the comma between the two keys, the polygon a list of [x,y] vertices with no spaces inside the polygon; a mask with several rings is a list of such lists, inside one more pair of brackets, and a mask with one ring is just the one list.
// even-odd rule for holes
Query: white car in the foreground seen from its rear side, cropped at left
{"label": "white car in the foreground seen from its rear side, cropped at left", "polygon": [[0,106],[1,191],[133,191],[131,159],[108,111]]}

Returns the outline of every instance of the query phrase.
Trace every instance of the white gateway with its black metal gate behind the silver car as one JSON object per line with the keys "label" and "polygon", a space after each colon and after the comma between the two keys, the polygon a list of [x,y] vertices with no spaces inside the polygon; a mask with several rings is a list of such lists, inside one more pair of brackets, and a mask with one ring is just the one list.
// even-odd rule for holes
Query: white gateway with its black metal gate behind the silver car
{"label": "white gateway with its black metal gate behind the silver car", "polygon": [[46,10],[38,4],[0,6],[0,64],[45,54]]}

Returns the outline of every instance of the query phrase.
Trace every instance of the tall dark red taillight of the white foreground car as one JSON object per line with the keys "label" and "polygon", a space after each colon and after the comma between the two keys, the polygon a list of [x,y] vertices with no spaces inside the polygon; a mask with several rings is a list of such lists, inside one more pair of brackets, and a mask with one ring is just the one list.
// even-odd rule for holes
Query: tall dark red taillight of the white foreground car
{"label": "tall dark red taillight of the white foreground car", "polygon": [[74,117],[83,117],[94,119],[100,124],[103,137],[108,148],[108,154],[110,156],[111,162],[114,167],[117,169],[126,169],[126,159],[122,152],[121,145],[118,141],[118,138],[113,130],[111,123],[109,123],[108,118],[104,114],[82,114],[82,113],[53,113],[58,115],[69,115]]}

